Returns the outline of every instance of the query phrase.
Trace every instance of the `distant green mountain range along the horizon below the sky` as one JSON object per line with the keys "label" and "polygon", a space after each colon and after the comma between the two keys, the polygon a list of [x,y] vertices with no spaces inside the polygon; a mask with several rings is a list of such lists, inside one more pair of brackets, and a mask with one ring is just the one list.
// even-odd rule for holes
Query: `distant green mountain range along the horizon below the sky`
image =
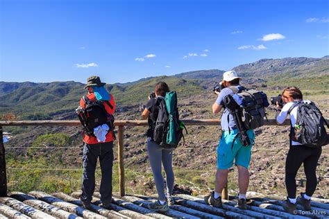
{"label": "distant green mountain range along the horizon below the sky", "polygon": [[[329,56],[323,58],[262,59],[242,64],[233,70],[242,76],[247,87],[297,85],[307,89],[328,90]],[[169,84],[180,96],[202,94],[217,85],[223,70],[211,69],[178,73],[174,76],[142,78],[135,82],[108,86],[119,105],[144,103],[160,80]],[[320,83],[320,84],[319,84]],[[312,85],[310,87],[310,85]],[[81,82],[0,82],[1,112],[15,112],[24,119],[51,119],[72,112],[85,94]]]}

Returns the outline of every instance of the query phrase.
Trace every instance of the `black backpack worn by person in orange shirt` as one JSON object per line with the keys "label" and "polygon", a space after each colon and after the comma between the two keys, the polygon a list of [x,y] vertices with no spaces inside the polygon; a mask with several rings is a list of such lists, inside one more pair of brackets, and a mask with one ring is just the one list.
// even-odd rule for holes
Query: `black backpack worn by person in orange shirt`
{"label": "black backpack worn by person in orange shirt", "polygon": [[87,123],[87,134],[94,135],[94,128],[103,124],[107,124],[110,128],[109,131],[113,132],[113,123],[115,118],[106,111],[104,106],[104,103],[106,103],[111,109],[113,109],[113,106],[110,104],[110,102],[107,100],[90,100],[87,98],[87,96],[83,96],[83,100],[85,101],[84,114]]}

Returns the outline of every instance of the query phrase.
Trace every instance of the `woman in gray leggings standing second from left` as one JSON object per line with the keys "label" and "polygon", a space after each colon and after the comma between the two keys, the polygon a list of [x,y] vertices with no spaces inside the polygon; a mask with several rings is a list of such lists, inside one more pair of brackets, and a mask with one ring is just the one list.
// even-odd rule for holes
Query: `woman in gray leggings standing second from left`
{"label": "woman in gray leggings standing second from left", "polygon": [[[149,129],[146,133],[147,152],[149,153],[149,161],[151,164],[155,187],[158,191],[158,201],[149,204],[149,209],[153,211],[168,211],[169,205],[174,204],[171,198],[174,189],[174,171],[172,167],[173,149],[168,150],[162,148],[153,141],[153,129],[158,118],[158,112],[161,101],[165,101],[165,95],[169,92],[169,87],[165,82],[158,82],[155,85],[155,91],[149,96],[146,103],[142,119],[148,119]],[[162,166],[165,169],[167,197],[165,195],[165,180],[162,177]]]}

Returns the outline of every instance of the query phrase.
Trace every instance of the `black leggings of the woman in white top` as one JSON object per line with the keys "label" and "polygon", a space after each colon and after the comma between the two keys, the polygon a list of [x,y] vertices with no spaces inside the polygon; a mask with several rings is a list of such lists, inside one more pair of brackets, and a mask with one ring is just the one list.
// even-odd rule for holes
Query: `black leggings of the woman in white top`
{"label": "black leggings of the woman in white top", "polygon": [[304,164],[306,175],[306,195],[312,196],[317,188],[317,163],[321,155],[321,148],[306,146],[290,146],[285,163],[285,185],[289,198],[296,198],[296,174],[301,164]]}

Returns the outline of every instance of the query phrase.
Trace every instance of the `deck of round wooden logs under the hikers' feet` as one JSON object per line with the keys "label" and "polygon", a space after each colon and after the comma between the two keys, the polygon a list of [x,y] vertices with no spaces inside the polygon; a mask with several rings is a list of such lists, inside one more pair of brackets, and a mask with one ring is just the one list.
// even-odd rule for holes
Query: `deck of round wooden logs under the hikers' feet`
{"label": "deck of round wooden logs under the hikers' feet", "polygon": [[286,213],[282,197],[265,197],[260,193],[248,193],[248,210],[235,207],[235,197],[223,200],[223,208],[206,205],[203,198],[191,195],[175,195],[175,204],[165,213],[146,208],[155,198],[144,195],[115,195],[108,209],[99,207],[99,193],[94,193],[92,207],[84,209],[78,199],[80,193],[53,193],[51,195],[31,191],[28,194],[10,193],[0,198],[0,218],[329,218],[329,200],[314,198],[312,211],[298,206],[297,215]]}

